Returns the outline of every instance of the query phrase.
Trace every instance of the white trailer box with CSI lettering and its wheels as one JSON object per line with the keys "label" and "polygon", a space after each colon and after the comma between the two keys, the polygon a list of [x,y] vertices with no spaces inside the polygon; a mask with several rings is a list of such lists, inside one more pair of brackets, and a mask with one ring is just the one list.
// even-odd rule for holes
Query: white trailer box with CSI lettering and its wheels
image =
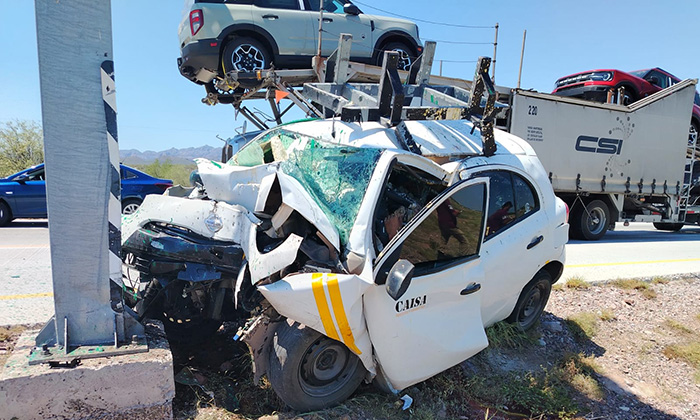
{"label": "white trailer box with CSI lettering and its wheels", "polygon": [[629,106],[513,90],[508,130],[535,149],[569,205],[572,237],[599,239],[616,221],[683,226],[696,83],[682,81]]}

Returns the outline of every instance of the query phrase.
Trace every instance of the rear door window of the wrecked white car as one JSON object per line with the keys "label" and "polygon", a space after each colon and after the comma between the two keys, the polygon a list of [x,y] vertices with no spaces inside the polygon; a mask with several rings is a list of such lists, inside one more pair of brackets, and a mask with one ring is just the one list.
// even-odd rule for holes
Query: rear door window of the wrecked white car
{"label": "rear door window of the wrecked white car", "polygon": [[487,176],[491,181],[487,239],[539,210],[535,190],[520,175],[509,171],[487,171],[476,176]]}

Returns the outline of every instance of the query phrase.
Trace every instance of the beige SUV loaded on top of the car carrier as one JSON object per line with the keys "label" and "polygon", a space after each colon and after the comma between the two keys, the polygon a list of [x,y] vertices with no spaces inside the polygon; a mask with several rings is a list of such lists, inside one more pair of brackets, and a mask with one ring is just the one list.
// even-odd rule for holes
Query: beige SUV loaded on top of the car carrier
{"label": "beige SUV loaded on top of the car carrier", "polygon": [[[229,71],[311,68],[318,50],[319,0],[189,0],[179,27],[180,73],[198,84]],[[328,57],[341,33],[352,34],[350,58],[380,64],[384,51],[400,53],[408,70],[422,51],[418,26],[362,13],[354,4],[323,0],[322,50]]]}

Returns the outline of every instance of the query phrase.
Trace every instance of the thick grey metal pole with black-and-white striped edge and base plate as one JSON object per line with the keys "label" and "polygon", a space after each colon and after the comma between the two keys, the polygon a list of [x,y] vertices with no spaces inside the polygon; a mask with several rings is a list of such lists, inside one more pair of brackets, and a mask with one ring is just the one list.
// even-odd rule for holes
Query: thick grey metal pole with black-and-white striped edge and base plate
{"label": "thick grey metal pole with black-and-white striped edge and base plate", "polygon": [[81,346],[105,345],[100,356],[147,351],[130,346],[144,331],[121,297],[111,3],[35,6],[55,315],[30,364],[96,356],[80,354]]}

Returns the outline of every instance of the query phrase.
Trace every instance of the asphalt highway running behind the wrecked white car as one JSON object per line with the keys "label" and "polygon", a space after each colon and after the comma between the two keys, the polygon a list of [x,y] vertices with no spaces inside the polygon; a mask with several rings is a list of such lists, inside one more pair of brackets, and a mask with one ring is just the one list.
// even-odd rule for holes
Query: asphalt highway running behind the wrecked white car
{"label": "asphalt highway running behind the wrecked white car", "polygon": [[[617,228],[600,241],[570,241],[562,281],[653,278],[700,273],[700,227],[657,231],[651,223]],[[0,325],[44,323],[54,313],[45,220],[0,228]]]}

